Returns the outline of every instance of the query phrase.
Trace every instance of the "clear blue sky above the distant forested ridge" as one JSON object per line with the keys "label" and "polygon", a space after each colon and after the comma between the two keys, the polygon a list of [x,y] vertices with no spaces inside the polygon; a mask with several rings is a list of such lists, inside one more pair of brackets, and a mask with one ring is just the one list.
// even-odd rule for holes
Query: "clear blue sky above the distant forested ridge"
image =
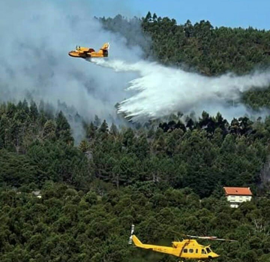
{"label": "clear blue sky above the distant forested ridge", "polygon": [[[75,1],[74,1],[75,2]],[[182,24],[209,20],[213,26],[270,29],[270,0],[88,0],[96,16],[156,13]]]}

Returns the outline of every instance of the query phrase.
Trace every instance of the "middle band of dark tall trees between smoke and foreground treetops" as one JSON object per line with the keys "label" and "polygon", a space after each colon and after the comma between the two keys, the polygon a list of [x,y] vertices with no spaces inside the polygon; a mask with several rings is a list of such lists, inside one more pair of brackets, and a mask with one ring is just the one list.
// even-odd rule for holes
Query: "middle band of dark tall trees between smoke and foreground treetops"
{"label": "middle band of dark tall trees between smoke and foreground treetops", "polygon": [[269,154],[270,117],[229,124],[203,112],[198,122],[154,123],[137,130],[109,127],[96,118],[85,123],[86,138],[73,146],[70,125],[60,111],[48,116],[35,102],[1,105],[0,183],[67,182],[87,190],[99,178],[117,188],[136,181],[190,187],[201,197],[223,185],[251,186]]}

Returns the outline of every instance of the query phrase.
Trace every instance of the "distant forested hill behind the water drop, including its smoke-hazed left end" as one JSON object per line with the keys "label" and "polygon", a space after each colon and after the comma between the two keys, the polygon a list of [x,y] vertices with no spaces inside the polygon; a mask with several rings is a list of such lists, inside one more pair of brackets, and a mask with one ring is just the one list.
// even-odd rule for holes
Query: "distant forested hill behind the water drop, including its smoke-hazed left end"
{"label": "distant forested hill behind the water drop, including its smoke-hazed left end", "polygon": [[[121,15],[99,20],[107,30],[127,37],[129,44],[140,45],[146,57],[165,65],[181,66],[208,76],[269,70],[270,31],[252,27],[214,28],[204,20],[194,24],[188,20],[179,25],[175,19],[157,17],[150,12],[141,20],[125,19]],[[144,40],[138,25],[145,33]],[[270,89],[257,91],[254,88],[244,93],[243,102],[255,109],[269,107]]]}

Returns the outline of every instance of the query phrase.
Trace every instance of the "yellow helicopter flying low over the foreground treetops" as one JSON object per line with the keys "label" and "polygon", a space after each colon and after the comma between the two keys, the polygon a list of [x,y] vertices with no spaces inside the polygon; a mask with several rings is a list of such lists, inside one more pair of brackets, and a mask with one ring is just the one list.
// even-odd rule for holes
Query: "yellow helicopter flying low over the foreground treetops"
{"label": "yellow helicopter flying low over the foreground treetops", "polygon": [[[135,228],[135,226],[131,225],[131,236],[129,238],[129,244],[132,244],[132,242],[133,242],[135,244],[135,246],[143,248],[143,249],[148,249],[148,250],[155,251],[155,252],[161,252],[161,253],[173,255],[173,256],[176,256],[178,258],[183,258],[183,259],[198,259],[198,262],[201,260],[211,261],[213,258],[219,257],[219,255],[217,255],[216,253],[214,253],[210,249],[210,245],[208,245],[208,246],[200,245],[193,238],[237,242],[237,240],[222,239],[222,238],[217,238],[217,237],[206,237],[206,236],[205,237],[198,237],[198,236],[181,234],[182,236],[185,236],[188,239],[184,239],[182,241],[173,241],[172,247],[149,245],[149,244],[143,244],[139,240],[139,238],[136,237],[136,235],[134,234],[134,228]],[[160,229],[160,230],[163,230],[163,229]],[[170,232],[177,233],[174,231],[170,231]],[[177,234],[179,234],[179,233],[177,233]]]}

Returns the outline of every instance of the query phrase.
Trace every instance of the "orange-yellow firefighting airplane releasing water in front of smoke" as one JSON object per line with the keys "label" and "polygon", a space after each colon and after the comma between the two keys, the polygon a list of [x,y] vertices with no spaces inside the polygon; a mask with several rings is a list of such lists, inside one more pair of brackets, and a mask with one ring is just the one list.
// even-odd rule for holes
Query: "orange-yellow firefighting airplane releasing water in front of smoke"
{"label": "orange-yellow firefighting airplane releasing water in front of smoke", "polygon": [[105,43],[98,52],[93,48],[76,46],[76,50],[70,51],[68,54],[72,57],[107,57],[110,48],[110,43]]}

